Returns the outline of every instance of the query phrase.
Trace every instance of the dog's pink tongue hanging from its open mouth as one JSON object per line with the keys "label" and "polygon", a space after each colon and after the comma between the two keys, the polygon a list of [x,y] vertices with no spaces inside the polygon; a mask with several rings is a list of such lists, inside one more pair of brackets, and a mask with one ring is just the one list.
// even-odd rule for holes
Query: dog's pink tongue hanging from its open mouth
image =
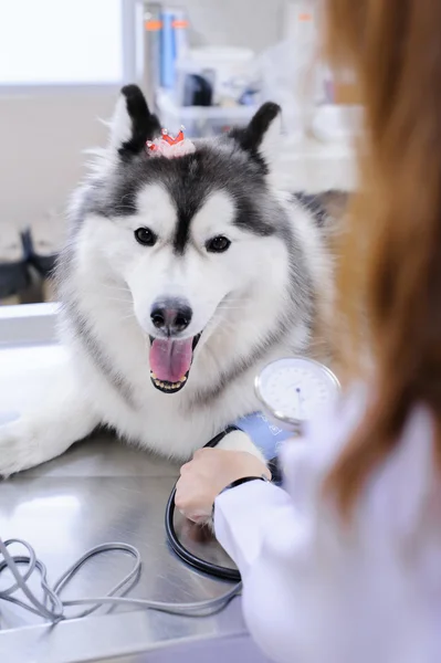
{"label": "dog's pink tongue hanging from its open mouth", "polygon": [[158,380],[178,382],[188,372],[192,358],[192,338],[162,340],[155,338],[150,348],[150,369]]}

